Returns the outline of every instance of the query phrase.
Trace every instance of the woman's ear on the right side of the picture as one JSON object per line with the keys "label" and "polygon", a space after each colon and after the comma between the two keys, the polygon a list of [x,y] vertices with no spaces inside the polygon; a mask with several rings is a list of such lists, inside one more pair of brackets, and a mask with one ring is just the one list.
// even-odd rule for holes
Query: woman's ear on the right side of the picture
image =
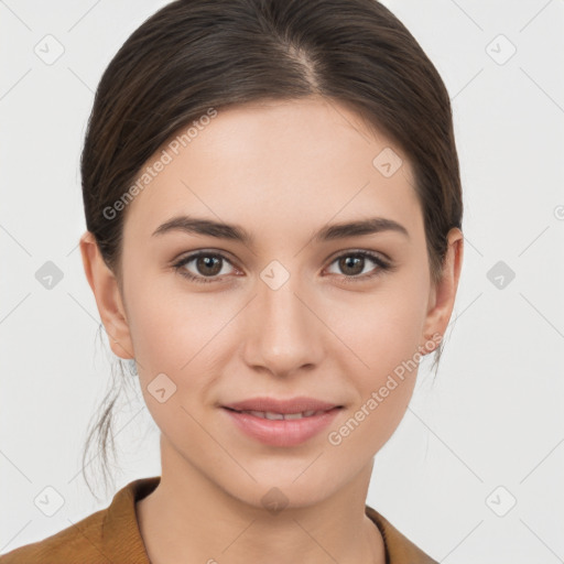
{"label": "woman's ear on the right side of the picture", "polygon": [[[429,310],[421,343],[425,354],[438,347],[440,340],[432,338],[432,336],[441,335],[442,339],[446,332],[453,313],[458,280],[460,278],[464,257],[464,236],[460,229],[453,227],[453,229],[448,231],[447,240],[448,248],[445,254],[443,275],[436,285],[432,284],[429,294]],[[427,348],[430,347],[430,343],[435,344],[434,348],[431,350]]]}

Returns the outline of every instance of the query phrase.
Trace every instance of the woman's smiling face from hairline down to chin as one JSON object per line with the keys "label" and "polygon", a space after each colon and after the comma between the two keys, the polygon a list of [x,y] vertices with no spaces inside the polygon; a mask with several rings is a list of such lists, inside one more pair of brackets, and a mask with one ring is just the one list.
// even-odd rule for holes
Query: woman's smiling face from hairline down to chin
{"label": "woman's smiling face from hairline down to chin", "polygon": [[[203,122],[145,164],[160,172],[127,206],[112,349],[138,362],[163,475],[196,470],[256,506],[276,487],[307,506],[371,469],[452,304],[434,310],[410,163],[355,112],[310,98]],[[182,217],[207,232],[188,219],[159,230]],[[376,218],[397,227],[335,228]],[[311,422],[254,419],[260,438],[238,424],[253,415],[225,408],[258,397],[340,408],[308,437]]]}

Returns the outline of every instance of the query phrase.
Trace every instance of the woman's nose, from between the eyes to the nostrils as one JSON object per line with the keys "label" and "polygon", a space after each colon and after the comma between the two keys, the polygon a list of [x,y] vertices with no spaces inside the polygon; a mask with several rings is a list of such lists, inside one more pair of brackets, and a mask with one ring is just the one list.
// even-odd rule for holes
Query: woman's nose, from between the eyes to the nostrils
{"label": "woman's nose, from between the eyes to the nostrils", "polygon": [[289,377],[318,366],[324,334],[315,300],[299,288],[297,276],[278,289],[259,281],[258,295],[247,308],[245,360],[254,370]]}

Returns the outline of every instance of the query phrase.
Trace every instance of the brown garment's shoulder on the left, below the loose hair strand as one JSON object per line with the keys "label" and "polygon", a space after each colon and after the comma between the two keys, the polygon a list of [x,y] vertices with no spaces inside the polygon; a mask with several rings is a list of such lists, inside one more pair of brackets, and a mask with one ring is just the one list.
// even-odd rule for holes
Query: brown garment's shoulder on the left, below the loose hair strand
{"label": "brown garment's shoulder on the left, below the loose hair strand", "polygon": [[148,495],[160,477],[129,482],[101,509],[43,539],[0,555],[0,564],[149,564],[139,532],[135,501]]}

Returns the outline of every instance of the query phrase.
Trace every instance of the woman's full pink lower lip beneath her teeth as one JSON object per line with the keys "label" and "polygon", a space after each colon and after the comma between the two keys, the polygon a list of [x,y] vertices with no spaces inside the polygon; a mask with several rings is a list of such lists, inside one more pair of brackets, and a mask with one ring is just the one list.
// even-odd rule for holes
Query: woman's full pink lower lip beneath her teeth
{"label": "woman's full pink lower lip beneath her teeth", "polygon": [[327,427],[340,408],[334,408],[319,415],[293,420],[270,420],[257,417],[250,413],[239,413],[227,408],[223,408],[223,410],[242,432],[261,443],[272,446],[295,446]]}

